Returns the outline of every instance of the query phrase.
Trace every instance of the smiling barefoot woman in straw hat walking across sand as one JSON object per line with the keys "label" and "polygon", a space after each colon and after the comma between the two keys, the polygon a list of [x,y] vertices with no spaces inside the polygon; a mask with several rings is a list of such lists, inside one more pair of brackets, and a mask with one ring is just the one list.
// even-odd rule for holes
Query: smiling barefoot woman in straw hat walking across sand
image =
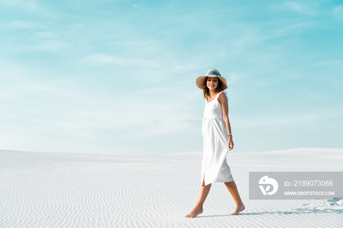
{"label": "smiling barefoot woman in straw hat walking across sand", "polygon": [[236,210],[231,215],[238,215],[245,206],[233,181],[226,155],[233,149],[231,126],[228,117],[228,100],[226,97],[226,80],[218,70],[209,69],[205,76],[196,78],[196,86],[203,90],[205,111],[202,121],[204,139],[201,166],[201,190],[194,209],[185,218],[194,218],[201,214],[202,205],[213,182],[224,182],[236,202]]}

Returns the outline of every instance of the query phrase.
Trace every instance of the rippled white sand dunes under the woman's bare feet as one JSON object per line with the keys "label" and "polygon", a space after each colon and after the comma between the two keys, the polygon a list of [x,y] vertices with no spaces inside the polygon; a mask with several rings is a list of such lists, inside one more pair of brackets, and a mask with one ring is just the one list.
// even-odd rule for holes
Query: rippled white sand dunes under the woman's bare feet
{"label": "rippled white sand dunes under the woman's bare feet", "polygon": [[227,156],[246,209],[212,184],[204,213],[201,153],[148,157],[0,150],[0,227],[342,227],[343,200],[249,200],[249,171],[343,171],[343,149]]}

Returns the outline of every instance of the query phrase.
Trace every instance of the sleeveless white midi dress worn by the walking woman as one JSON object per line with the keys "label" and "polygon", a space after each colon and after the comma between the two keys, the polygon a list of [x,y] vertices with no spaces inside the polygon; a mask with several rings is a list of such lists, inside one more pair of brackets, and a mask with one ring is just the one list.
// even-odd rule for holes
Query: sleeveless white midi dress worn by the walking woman
{"label": "sleeveless white midi dress worn by the walking woman", "polygon": [[[226,91],[221,91],[225,93]],[[213,182],[232,182],[230,167],[226,162],[229,151],[227,130],[223,120],[221,103],[217,96],[209,103],[205,100],[204,118],[202,121],[202,137],[204,139],[201,165],[201,184]]]}

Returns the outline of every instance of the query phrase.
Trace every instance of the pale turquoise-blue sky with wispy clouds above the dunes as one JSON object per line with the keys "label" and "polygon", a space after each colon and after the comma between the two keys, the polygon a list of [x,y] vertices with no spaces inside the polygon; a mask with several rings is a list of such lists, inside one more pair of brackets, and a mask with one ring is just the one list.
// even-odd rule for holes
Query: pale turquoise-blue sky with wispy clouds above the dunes
{"label": "pale turquoise-blue sky with wispy clouds above the dunes", "polygon": [[342,147],[343,2],[0,0],[0,149],[202,151],[197,76],[234,150]]}

